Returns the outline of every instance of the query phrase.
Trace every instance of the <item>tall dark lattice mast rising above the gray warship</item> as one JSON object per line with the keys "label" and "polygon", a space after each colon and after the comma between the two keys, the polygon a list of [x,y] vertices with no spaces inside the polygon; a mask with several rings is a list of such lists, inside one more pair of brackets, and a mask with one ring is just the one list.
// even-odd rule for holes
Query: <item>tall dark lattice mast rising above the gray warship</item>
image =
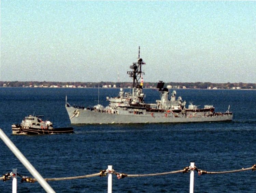
{"label": "tall dark lattice mast rising above the gray warship", "polygon": [[140,46],[139,46],[139,55],[138,55],[138,62],[132,63],[130,66],[133,71],[127,71],[127,74],[133,79],[133,88],[134,87],[140,87],[142,89],[142,86],[139,84],[139,80],[143,77],[145,74],[141,71],[141,66],[146,64],[143,62],[143,60],[140,58]]}

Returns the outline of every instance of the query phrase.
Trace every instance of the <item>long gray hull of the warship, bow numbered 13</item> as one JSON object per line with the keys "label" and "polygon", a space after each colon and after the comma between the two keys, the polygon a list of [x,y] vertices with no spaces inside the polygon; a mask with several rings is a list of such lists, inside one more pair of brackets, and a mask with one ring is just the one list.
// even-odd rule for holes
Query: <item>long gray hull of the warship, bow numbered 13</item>
{"label": "long gray hull of the warship, bow numbered 13", "polygon": [[135,114],[129,111],[98,112],[87,109],[67,107],[71,124],[129,124],[129,123],[188,123],[188,122],[220,122],[232,120],[232,113],[219,113],[214,116],[152,113]]}

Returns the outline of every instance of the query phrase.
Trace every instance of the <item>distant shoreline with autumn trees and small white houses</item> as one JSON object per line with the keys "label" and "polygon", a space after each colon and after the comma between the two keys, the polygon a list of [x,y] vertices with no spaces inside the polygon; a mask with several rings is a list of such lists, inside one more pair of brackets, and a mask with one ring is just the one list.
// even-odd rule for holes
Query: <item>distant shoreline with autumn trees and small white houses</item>
{"label": "distant shoreline with autumn trees and small white houses", "polygon": [[[132,82],[39,82],[39,81],[0,81],[1,87],[132,87]],[[187,89],[256,89],[256,83],[211,83],[211,82],[166,82],[165,87]],[[157,82],[144,82],[143,87],[156,87]]]}

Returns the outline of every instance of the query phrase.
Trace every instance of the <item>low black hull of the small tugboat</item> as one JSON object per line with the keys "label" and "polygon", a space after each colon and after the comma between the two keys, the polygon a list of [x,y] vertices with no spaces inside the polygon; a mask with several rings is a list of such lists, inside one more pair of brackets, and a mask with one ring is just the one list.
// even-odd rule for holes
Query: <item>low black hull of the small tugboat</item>
{"label": "low black hull of the small tugboat", "polygon": [[[13,130],[17,130],[16,128],[12,128]],[[19,128],[19,132],[16,132],[15,134],[58,134],[58,133],[73,133],[74,129],[73,127],[63,127],[63,128],[54,128],[54,129],[41,129],[41,128]]]}

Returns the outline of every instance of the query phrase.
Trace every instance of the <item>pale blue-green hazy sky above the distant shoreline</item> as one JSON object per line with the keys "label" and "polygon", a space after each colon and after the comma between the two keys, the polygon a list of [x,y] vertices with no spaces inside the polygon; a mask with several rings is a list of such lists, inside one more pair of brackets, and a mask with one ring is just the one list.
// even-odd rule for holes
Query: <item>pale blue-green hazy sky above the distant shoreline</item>
{"label": "pale blue-green hazy sky above the distant shoreline", "polygon": [[0,5],[0,80],[256,83],[256,1]]}

